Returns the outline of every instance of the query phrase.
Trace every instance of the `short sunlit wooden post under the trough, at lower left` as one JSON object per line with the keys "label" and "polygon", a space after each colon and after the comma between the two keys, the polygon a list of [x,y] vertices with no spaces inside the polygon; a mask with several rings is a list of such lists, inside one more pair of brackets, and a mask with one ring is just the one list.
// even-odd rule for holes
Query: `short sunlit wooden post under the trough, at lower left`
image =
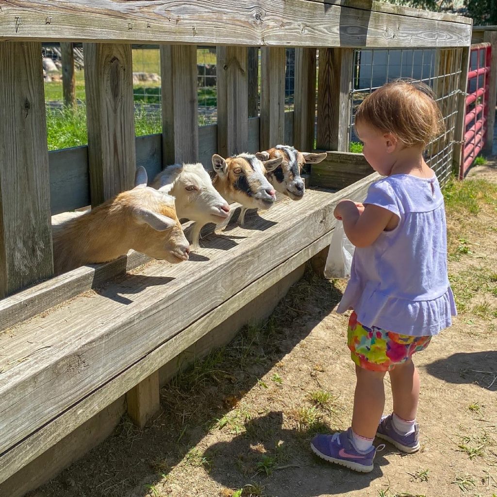
{"label": "short sunlit wooden post under the trough, at lower left", "polygon": [[159,413],[161,402],[159,396],[159,371],[152,373],[145,380],[126,394],[128,415],[140,428]]}

